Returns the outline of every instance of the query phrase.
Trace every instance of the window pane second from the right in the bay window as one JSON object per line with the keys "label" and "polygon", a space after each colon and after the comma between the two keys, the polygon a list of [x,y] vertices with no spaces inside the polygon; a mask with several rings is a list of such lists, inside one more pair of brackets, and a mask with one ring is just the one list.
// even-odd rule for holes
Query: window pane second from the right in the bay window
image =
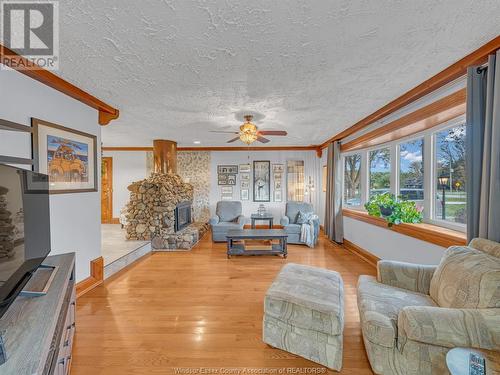
{"label": "window pane second from the right in the bay window", "polygon": [[399,195],[424,208],[424,140],[399,145]]}

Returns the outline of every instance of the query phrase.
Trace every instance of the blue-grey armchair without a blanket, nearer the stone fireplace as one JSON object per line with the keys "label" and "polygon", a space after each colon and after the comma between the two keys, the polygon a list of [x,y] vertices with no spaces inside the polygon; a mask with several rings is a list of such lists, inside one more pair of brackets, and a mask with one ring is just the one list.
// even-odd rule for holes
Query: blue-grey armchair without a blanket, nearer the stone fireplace
{"label": "blue-grey armchair without a blanket, nearer the stone fireplace", "polygon": [[225,242],[226,234],[231,229],[243,229],[245,216],[241,214],[241,202],[217,202],[215,216],[209,221],[212,227],[212,241]]}

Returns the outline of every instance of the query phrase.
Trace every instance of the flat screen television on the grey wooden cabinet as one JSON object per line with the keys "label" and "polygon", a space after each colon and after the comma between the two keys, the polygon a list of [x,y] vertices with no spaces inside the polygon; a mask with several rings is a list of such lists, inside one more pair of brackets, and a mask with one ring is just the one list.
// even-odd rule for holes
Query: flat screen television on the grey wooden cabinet
{"label": "flat screen television on the grey wooden cabinet", "polygon": [[0,164],[0,317],[49,252],[48,176]]}

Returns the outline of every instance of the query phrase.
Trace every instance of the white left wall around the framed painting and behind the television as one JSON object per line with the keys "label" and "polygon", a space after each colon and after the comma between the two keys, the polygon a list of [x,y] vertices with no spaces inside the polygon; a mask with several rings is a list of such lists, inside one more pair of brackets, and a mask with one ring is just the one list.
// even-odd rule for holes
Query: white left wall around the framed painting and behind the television
{"label": "white left wall around the framed painting and behind the television", "polygon": [[[0,98],[2,119],[29,126],[31,117],[37,117],[96,135],[100,175],[101,129],[95,109],[15,71],[0,71]],[[15,139],[2,134],[0,154],[15,149],[28,156],[26,140]],[[75,252],[77,280],[88,277],[90,261],[101,256],[100,193],[51,195],[50,210],[51,255]]]}

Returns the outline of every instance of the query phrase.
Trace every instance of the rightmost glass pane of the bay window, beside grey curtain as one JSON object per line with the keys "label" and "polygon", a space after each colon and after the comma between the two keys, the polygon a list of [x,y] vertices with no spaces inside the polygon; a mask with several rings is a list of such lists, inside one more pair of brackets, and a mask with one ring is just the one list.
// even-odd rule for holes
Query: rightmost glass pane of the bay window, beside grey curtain
{"label": "rightmost glass pane of the bay window, beside grey curtain", "polygon": [[465,125],[441,130],[434,137],[434,219],[466,224]]}

